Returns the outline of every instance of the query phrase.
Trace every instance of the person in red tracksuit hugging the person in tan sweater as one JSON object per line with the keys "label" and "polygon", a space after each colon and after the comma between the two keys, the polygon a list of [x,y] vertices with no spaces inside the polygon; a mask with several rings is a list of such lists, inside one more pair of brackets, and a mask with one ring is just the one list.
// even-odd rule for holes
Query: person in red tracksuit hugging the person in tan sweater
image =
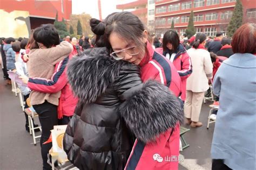
{"label": "person in red tracksuit hugging the person in tan sweater", "polygon": [[62,91],[57,108],[59,125],[69,123],[78,102],[78,99],[73,95],[70,89],[66,75],[66,66],[71,58],[72,55],[70,54],[70,56],[67,56],[64,60],[55,65],[55,73],[53,73],[51,80],[39,77],[25,78],[22,76],[23,81],[28,84],[31,90],[41,93],[57,93],[57,91]]}

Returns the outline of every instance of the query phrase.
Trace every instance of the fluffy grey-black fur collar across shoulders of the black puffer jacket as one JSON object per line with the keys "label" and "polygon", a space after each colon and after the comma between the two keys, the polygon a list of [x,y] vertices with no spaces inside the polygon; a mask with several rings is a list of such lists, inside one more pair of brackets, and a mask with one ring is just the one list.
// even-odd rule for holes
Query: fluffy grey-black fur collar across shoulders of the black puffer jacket
{"label": "fluffy grey-black fur collar across shoulders of the black puffer jacket", "polygon": [[68,80],[79,101],[93,103],[118,76],[120,68],[127,64],[112,59],[105,47],[92,48],[70,61]]}

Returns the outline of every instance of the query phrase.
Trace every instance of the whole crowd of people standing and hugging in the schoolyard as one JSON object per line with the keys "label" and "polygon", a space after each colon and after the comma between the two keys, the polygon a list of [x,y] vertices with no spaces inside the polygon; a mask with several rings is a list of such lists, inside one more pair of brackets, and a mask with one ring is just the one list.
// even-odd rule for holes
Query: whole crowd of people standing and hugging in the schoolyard
{"label": "whole crowd of people standing and hugging in the schoolyard", "polygon": [[209,83],[220,100],[212,169],[255,167],[255,129],[246,128],[255,124],[254,24],[242,25],[232,41],[222,33],[207,40],[202,32],[180,39],[174,30],[159,40],[130,12],[114,12],[103,22],[93,18],[90,25],[92,40],[60,41],[51,24],[21,42],[2,39],[4,78],[21,63],[28,87],[20,88],[39,115],[43,169],[51,169],[52,147],[43,143],[54,125],[63,124],[64,150],[79,169],[178,169],[178,161],[153,155],[178,157],[184,119],[191,128],[203,125],[199,116]]}

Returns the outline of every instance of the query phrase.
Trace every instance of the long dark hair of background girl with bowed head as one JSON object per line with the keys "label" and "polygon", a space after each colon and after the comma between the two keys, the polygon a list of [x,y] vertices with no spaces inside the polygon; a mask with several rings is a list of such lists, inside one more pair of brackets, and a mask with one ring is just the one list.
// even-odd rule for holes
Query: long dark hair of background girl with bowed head
{"label": "long dark hair of background girl with bowed head", "polygon": [[172,44],[173,51],[177,51],[179,46],[179,35],[175,30],[168,30],[164,34],[163,38],[163,51],[167,51],[167,44]]}

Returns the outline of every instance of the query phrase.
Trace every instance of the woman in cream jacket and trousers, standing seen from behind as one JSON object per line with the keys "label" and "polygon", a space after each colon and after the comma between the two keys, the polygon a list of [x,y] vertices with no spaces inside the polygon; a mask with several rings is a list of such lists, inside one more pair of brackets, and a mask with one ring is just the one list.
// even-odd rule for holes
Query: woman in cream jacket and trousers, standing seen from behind
{"label": "woman in cream jacket and trousers, standing seen from behind", "polygon": [[212,61],[210,53],[205,48],[206,34],[197,33],[193,47],[188,49],[193,72],[187,78],[186,100],[184,104],[184,114],[186,124],[191,128],[197,128],[203,124],[199,122],[201,106],[204,93],[209,88],[208,80],[212,79]]}

